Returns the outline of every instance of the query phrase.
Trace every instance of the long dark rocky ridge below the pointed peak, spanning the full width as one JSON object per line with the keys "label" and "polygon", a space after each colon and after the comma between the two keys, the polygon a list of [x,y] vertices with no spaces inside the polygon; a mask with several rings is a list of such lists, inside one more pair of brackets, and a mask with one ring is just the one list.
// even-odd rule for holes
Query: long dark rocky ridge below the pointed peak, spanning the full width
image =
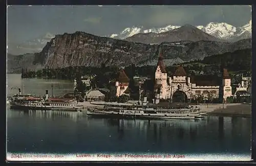
{"label": "long dark rocky ridge below the pointed peak, spanning the full width", "polygon": [[[165,59],[182,59],[183,61],[202,59],[205,56],[233,52],[251,48],[250,39],[235,43],[221,41],[179,41],[163,42]],[[68,67],[68,66],[127,66],[151,64],[158,57],[159,44],[143,44],[131,41],[99,37],[84,32],[56,35],[46,44],[40,53],[8,57],[8,69],[17,67]],[[24,63],[23,63],[24,62]],[[25,63],[26,62],[26,63]],[[171,65],[171,64],[169,64]]]}

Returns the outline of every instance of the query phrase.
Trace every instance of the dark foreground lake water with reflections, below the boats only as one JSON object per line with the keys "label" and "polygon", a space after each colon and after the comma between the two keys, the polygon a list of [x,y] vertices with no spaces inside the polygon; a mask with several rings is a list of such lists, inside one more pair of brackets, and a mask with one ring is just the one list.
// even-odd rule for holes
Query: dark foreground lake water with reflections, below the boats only
{"label": "dark foreground lake water with reflections, below the boats only", "polygon": [[[61,144],[65,143],[69,144],[73,151],[82,151],[82,148],[90,147],[89,150],[95,151],[150,150],[200,153],[247,151],[250,148],[250,132],[246,119],[238,121],[244,123],[247,128],[235,125],[232,129],[231,122],[234,120],[228,118],[230,122],[227,124],[225,117],[209,117],[210,123],[207,124],[206,120],[147,121],[92,118],[81,112],[63,111],[8,110],[8,114],[8,138],[11,140],[9,147],[12,150],[15,150],[16,144],[24,144],[22,147],[30,145],[29,142],[25,144],[19,141],[19,138],[27,140],[28,136],[38,140],[38,143],[35,143],[37,147],[41,147],[42,139],[49,148],[53,146],[55,150],[63,149]],[[16,124],[22,125],[17,127]],[[228,129],[224,130],[226,127]],[[237,131],[237,134],[233,133],[231,136],[230,130]],[[65,135],[61,137],[60,143],[59,134]],[[243,143],[237,144],[241,139]],[[58,147],[53,143],[57,143]]]}

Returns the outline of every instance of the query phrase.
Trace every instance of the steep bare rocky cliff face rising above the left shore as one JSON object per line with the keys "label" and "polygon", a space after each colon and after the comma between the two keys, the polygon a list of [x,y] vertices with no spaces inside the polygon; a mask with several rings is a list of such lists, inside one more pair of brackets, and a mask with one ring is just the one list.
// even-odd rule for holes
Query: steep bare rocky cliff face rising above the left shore
{"label": "steep bare rocky cliff face rising above the left shore", "polygon": [[56,35],[44,49],[35,54],[34,63],[49,67],[126,66],[156,56],[158,45],[140,44],[99,37],[84,32]]}

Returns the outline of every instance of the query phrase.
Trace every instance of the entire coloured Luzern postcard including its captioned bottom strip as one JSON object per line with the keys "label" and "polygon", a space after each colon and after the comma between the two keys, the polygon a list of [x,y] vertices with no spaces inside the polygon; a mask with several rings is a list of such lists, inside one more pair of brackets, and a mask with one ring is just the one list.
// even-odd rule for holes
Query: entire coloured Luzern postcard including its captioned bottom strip
{"label": "entire coloured Luzern postcard including its captioned bottom strip", "polygon": [[250,161],[251,6],[8,6],[7,161]]}

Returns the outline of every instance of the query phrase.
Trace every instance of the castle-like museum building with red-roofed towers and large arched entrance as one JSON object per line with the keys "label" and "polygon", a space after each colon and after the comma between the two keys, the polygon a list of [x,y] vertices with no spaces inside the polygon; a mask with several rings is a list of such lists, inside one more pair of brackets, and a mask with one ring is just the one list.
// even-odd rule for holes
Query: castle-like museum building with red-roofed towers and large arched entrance
{"label": "castle-like museum building with red-roofed towers and large arched entrance", "polygon": [[172,76],[168,76],[163,63],[161,49],[155,71],[155,102],[170,100],[172,102],[186,102],[188,99],[203,97],[219,98],[225,102],[231,97],[231,79],[227,69],[223,69],[222,82],[217,76],[189,76],[182,65],[178,66]]}

